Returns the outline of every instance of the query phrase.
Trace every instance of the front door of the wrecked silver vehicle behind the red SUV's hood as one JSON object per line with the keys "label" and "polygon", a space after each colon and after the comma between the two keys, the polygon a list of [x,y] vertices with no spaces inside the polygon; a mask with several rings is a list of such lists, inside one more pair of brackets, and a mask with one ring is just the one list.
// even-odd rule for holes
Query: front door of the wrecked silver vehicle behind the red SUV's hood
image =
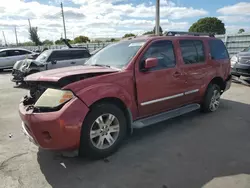
{"label": "front door of the wrecked silver vehicle behind the red SUV's hood", "polygon": [[57,50],[53,51],[48,58],[47,69],[56,69],[70,66],[70,51]]}

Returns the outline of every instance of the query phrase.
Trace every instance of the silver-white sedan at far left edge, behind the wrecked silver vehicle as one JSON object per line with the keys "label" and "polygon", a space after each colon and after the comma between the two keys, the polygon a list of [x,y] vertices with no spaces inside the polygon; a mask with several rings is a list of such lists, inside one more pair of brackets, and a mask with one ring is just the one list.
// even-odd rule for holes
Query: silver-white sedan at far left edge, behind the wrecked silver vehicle
{"label": "silver-white sedan at far left edge, behind the wrecked silver vehicle", "polygon": [[16,61],[24,60],[26,58],[34,59],[37,53],[21,48],[7,48],[0,50],[0,70],[10,69]]}

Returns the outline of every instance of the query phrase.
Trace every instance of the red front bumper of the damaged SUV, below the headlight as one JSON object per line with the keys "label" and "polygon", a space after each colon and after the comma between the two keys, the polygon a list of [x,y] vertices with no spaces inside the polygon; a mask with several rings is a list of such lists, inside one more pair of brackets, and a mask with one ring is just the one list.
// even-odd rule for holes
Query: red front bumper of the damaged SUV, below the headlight
{"label": "red front bumper of the damaged SUV, below the headlight", "polygon": [[78,98],[55,112],[34,113],[23,102],[19,105],[24,134],[34,144],[50,150],[79,148],[81,127],[88,111],[88,107]]}

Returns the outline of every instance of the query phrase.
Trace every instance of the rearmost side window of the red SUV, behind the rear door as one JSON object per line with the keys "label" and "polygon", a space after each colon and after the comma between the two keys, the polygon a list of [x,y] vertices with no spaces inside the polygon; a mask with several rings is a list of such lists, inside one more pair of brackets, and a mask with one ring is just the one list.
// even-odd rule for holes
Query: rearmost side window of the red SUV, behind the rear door
{"label": "rearmost side window of the red SUV, behind the rear door", "polygon": [[209,48],[212,59],[214,60],[229,59],[227,49],[221,40],[210,40]]}

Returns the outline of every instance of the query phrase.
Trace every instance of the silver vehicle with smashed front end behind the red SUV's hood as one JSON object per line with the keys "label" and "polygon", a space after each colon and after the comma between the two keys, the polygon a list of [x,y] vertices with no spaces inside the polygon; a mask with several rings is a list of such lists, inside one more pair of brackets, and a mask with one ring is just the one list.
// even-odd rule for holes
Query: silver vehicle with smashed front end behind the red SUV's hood
{"label": "silver vehicle with smashed front end behind the red SUV's hood", "polygon": [[36,72],[73,65],[83,65],[89,57],[89,52],[80,48],[46,50],[35,60],[25,59],[17,61],[12,70],[12,81],[19,84],[23,82],[25,76]]}

